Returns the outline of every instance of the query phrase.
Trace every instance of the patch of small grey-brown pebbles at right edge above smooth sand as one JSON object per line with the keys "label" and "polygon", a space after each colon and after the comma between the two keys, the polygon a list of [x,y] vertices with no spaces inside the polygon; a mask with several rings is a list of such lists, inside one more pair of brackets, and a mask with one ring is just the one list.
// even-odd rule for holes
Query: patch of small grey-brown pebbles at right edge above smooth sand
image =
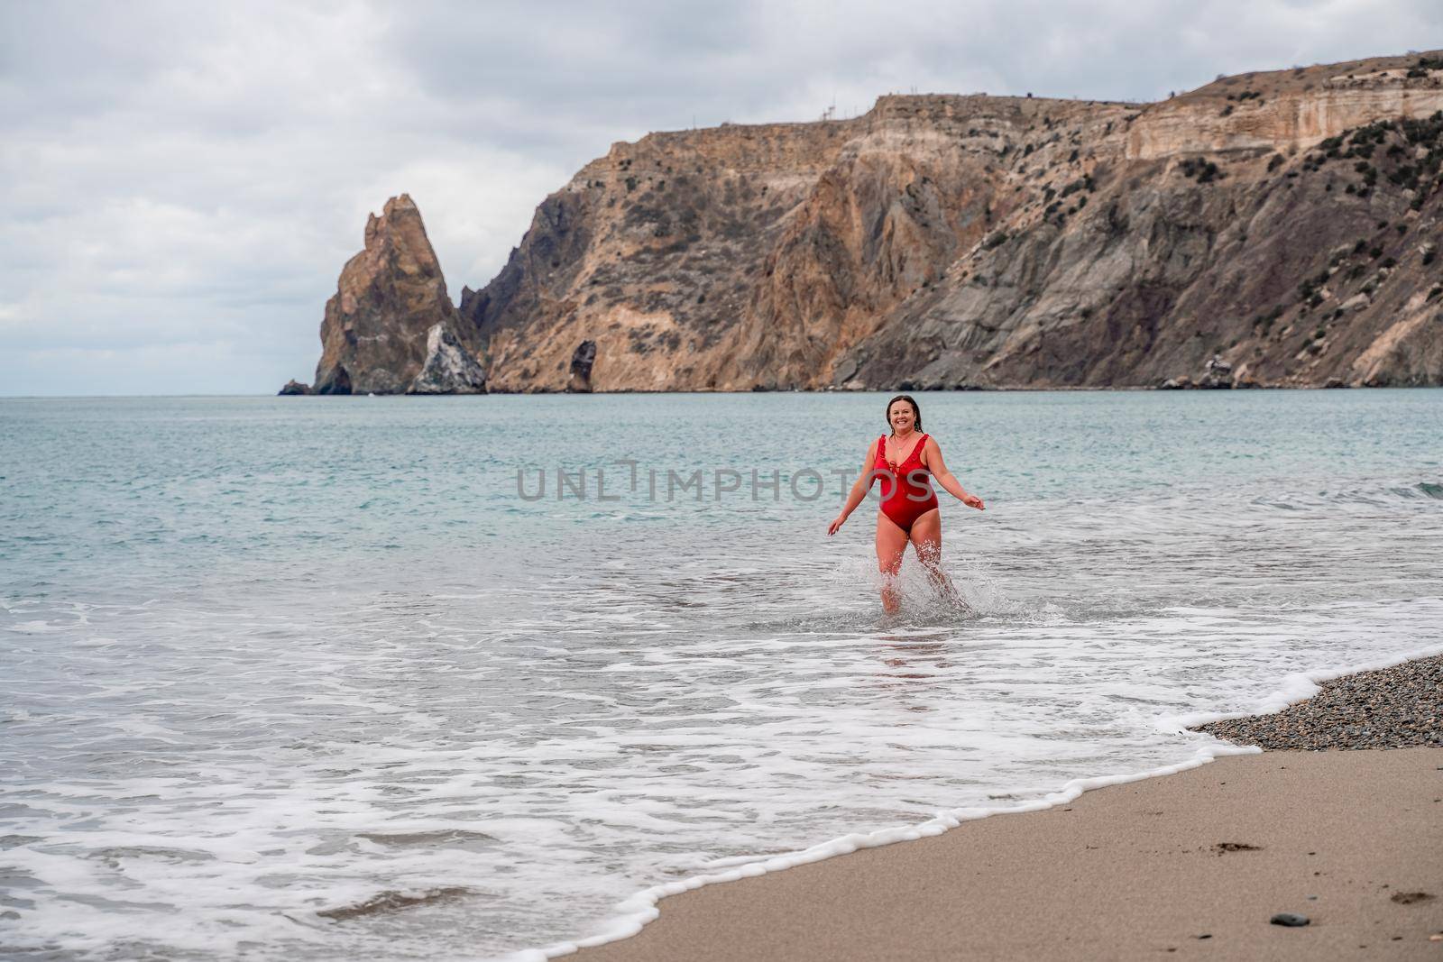
{"label": "patch of small grey-brown pebbles at right edge above smooth sand", "polygon": [[1312,698],[1268,715],[1198,725],[1268,750],[1443,747],[1443,655],[1320,682]]}

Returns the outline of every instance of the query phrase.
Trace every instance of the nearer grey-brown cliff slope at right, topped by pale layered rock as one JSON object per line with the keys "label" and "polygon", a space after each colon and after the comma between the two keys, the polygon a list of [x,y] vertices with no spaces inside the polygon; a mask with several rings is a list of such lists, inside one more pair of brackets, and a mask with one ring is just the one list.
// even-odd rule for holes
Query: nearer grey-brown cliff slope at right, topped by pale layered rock
{"label": "nearer grey-brown cliff slope at right, topped by pale layered rock", "polygon": [[1346,66],[1124,118],[1071,195],[1043,167],[1030,213],[856,345],[843,384],[1159,385],[1214,358],[1238,385],[1443,384],[1443,71]]}

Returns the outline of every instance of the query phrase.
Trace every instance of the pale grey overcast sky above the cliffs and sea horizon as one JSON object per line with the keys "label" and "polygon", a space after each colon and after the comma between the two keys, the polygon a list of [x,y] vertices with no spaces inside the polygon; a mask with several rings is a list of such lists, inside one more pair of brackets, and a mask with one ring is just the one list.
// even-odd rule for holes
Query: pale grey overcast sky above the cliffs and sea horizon
{"label": "pale grey overcast sky above the cliffs and sea horizon", "polygon": [[912,89],[1154,100],[1439,46],[1437,0],[0,0],[0,395],[310,381],[388,196],[457,299],[649,130]]}

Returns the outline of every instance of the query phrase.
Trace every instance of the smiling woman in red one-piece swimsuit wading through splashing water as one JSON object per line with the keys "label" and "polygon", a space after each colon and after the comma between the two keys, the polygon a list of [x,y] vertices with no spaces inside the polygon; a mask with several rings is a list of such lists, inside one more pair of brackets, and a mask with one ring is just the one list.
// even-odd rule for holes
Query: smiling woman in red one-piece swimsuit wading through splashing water
{"label": "smiling woman in red one-piece swimsuit wading through splashing water", "polygon": [[887,401],[887,423],[892,436],[883,434],[867,447],[861,463],[861,477],[851,486],[841,513],[827,528],[837,534],[857,505],[867,496],[873,482],[882,479],[882,511],[877,512],[877,567],[883,574],[882,607],[889,614],[899,607],[895,578],[902,570],[908,541],[916,550],[932,583],[955,597],[955,590],[942,574],[942,513],[937,506],[937,492],[928,475],[968,508],[983,511],[983,499],[968,495],[942,462],[942,451],[928,434],[922,434],[922,410],[911,395],[899,394]]}

